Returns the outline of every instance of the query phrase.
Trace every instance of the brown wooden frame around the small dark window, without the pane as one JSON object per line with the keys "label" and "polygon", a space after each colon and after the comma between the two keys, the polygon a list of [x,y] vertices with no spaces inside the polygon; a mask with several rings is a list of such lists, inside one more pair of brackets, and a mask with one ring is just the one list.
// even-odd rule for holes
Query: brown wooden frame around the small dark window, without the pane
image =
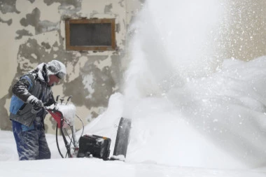
{"label": "brown wooden frame around the small dark window, without the pane", "polygon": [[[70,45],[70,24],[95,24],[95,23],[111,23],[111,45]],[[66,50],[116,50],[116,19],[67,19],[65,20],[66,27]]]}

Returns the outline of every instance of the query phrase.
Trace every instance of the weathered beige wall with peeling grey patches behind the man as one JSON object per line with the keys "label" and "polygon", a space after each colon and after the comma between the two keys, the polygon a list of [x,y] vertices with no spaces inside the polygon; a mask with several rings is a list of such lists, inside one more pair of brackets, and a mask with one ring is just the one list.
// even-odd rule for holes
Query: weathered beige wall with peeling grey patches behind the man
{"label": "weathered beige wall with peeling grey patches behind the man", "polygon": [[[127,4],[128,3],[128,4]],[[127,28],[142,1],[130,0],[0,0],[0,129],[8,120],[11,85],[41,62],[58,59],[68,75],[52,90],[77,106],[85,123],[103,113],[109,97],[120,90],[127,65]],[[115,18],[117,50],[66,51],[64,19]],[[53,133],[52,118],[45,119]],[[78,125],[76,126],[78,127]]]}

